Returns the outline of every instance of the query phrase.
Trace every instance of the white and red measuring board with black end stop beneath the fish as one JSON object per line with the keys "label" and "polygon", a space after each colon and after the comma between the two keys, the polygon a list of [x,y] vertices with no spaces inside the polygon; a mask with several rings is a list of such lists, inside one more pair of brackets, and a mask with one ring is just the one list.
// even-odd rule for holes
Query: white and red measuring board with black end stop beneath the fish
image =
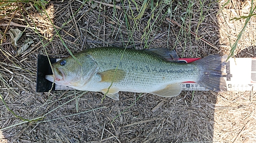
{"label": "white and red measuring board with black end stop beneath the fish", "polygon": [[[190,63],[199,58],[179,59],[183,63]],[[50,59],[55,63],[60,59]],[[227,91],[256,91],[256,58],[230,58],[226,63],[227,74],[224,75],[227,84]],[[37,80],[36,92],[48,92],[52,88],[52,82],[45,79],[45,75],[52,74],[49,60],[45,55],[38,55],[37,58]],[[180,83],[183,91],[208,91],[203,85],[195,82]],[[52,90],[73,90],[70,87],[54,83]]]}

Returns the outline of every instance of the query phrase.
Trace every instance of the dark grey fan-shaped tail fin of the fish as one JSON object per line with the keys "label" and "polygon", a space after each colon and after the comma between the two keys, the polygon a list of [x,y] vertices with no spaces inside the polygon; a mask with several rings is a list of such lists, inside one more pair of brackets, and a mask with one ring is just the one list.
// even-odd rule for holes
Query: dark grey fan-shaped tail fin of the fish
{"label": "dark grey fan-shaped tail fin of the fish", "polygon": [[226,80],[223,78],[225,60],[220,55],[209,55],[193,62],[201,69],[197,83],[215,92],[227,91]]}

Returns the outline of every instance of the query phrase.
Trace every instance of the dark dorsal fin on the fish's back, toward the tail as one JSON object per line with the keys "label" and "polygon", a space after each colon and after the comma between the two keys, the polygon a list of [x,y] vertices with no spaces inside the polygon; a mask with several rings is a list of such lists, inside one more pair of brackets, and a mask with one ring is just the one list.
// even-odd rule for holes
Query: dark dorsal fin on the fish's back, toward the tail
{"label": "dark dorsal fin on the fish's back, toward the tail", "polygon": [[175,50],[169,51],[169,49],[167,48],[152,48],[144,50],[150,51],[158,56],[161,56],[161,58],[169,62],[177,62],[179,59],[179,56]]}

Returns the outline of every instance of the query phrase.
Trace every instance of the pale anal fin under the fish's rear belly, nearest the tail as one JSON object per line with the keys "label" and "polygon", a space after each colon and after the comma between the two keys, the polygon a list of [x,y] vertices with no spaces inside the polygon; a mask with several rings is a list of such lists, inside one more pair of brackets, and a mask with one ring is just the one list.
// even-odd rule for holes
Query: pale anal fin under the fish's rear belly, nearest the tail
{"label": "pale anal fin under the fish's rear belly, nearest the tail", "polygon": [[151,94],[155,94],[161,97],[174,97],[178,96],[181,92],[180,84],[169,84],[164,89],[152,92]]}

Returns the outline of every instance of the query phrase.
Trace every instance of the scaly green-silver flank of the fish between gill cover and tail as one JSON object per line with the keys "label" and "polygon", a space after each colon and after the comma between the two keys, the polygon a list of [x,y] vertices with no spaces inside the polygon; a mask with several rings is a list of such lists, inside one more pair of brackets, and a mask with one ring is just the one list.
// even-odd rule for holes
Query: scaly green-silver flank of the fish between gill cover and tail
{"label": "scaly green-silver flank of the fish between gill cover and tail", "polygon": [[126,71],[123,80],[113,83],[113,85],[122,85],[124,88],[127,83],[152,88],[148,86],[184,80],[196,81],[198,78],[199,69],[196,65],[167,62],[160,56],[143,50],[125,49],[124,51],[124,48],[116,47],[89,49],[86,52],[95,59],[100,68],[99,72],[115,69],[117,66],[118,69]]}

